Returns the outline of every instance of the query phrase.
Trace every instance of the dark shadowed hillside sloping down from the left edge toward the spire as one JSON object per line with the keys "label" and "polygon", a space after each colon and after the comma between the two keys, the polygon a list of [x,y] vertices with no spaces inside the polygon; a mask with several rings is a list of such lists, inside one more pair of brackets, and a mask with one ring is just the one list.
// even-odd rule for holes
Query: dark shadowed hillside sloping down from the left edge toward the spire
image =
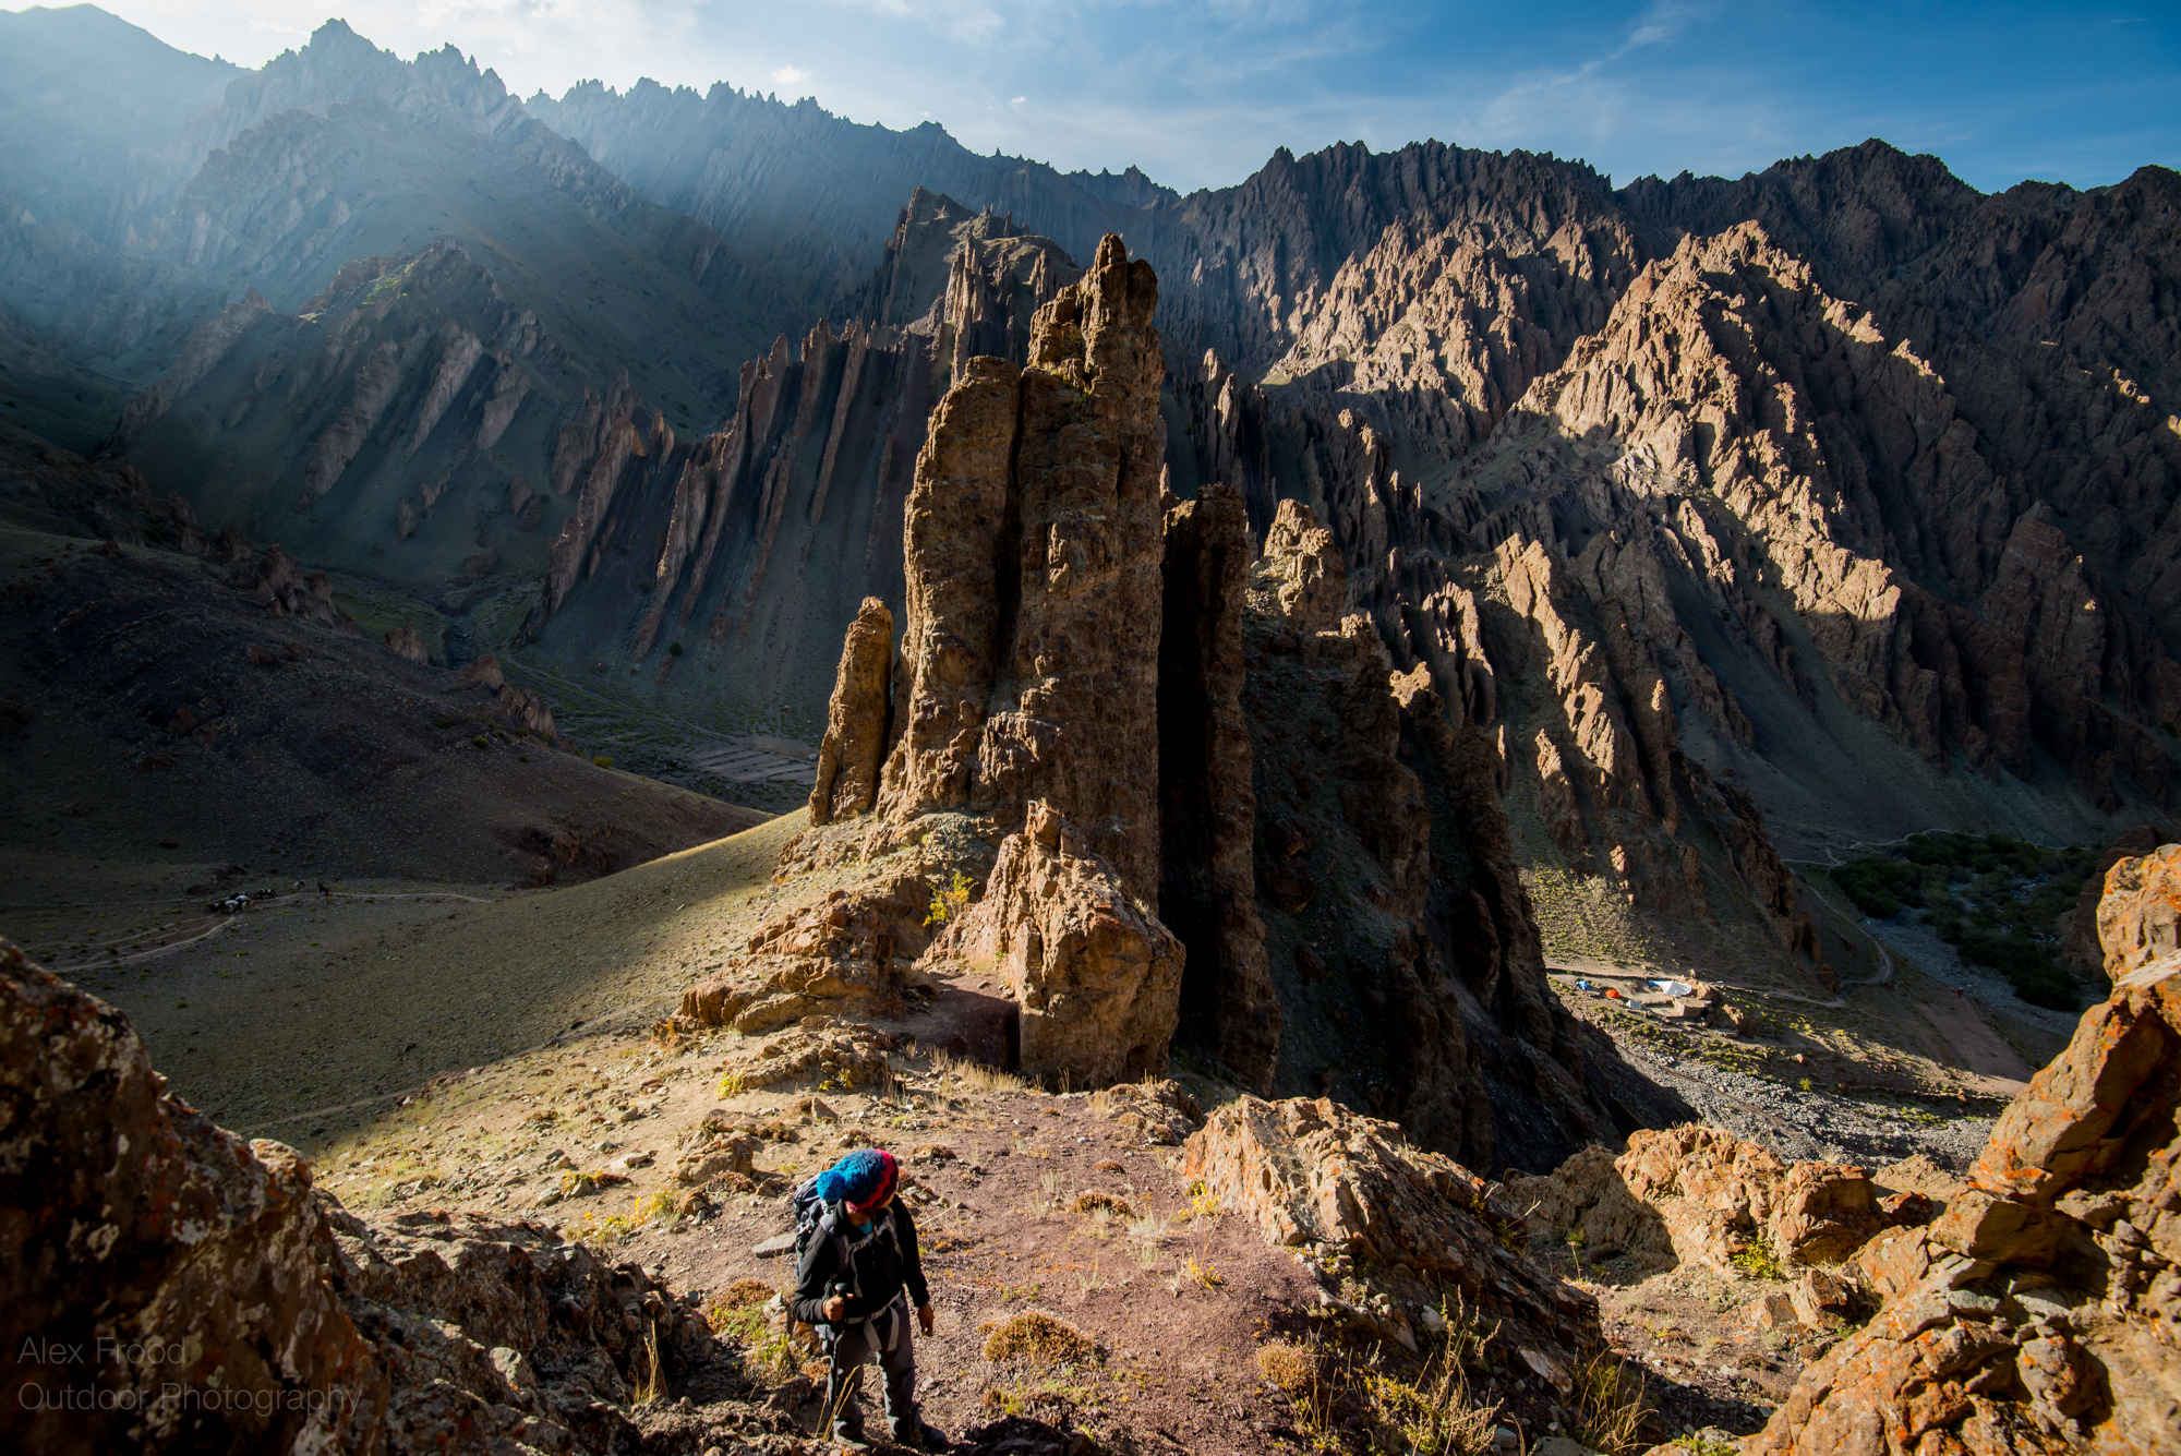
{"label": "dark shadowed hillside sloping down from the left edge toward the spire", "polygon": [[574,881],[755,820],[593,765],[534,700],[360,632],[277,547],[207,541],[179,497],[13,427],[0,684],[17,905],[264,883],[244,865]]}

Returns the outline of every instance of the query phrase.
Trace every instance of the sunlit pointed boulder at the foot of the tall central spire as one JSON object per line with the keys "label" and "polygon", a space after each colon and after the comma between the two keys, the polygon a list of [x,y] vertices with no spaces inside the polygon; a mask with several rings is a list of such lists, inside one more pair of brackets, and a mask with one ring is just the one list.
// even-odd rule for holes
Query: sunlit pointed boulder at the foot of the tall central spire
{"label": "sunlit pointed boulder at the foot of the tall central spire", "polygon": [[1023,828],[1001,841],[984,896],[918,966],[940,961],[1005,983],[1019,1007],[1021,1070],[1040,1081],[1106,1085],[1167,1066],[1182,944],[1051,804],[1032,800]]}

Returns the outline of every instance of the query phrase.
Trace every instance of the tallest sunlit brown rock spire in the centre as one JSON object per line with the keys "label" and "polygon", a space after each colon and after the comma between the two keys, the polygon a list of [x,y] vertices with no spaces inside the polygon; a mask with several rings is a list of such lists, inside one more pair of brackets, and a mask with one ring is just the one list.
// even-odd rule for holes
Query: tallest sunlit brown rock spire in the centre
{"label": "tallest sunlit brown rock spire in the centre", "polygon": [[879,809],[1021,824],[1047,800],[1145,900],[1158,887],[1165,364],[1158,279],[1119,238],[1038,310],[1027,368],[940,401],[907,506],[903,735]]}

